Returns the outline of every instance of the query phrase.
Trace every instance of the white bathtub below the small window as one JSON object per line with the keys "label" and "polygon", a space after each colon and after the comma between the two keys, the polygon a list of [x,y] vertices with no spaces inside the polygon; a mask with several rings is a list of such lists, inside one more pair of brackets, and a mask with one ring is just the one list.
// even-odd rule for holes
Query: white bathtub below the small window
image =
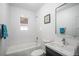
{"label": "white bathtub below the small window", "polygon": [[35,42],[28,44],[21,44],[9,47],[6,56],[30,56],[30,53],[35,50],[41,48],[40,44]]}

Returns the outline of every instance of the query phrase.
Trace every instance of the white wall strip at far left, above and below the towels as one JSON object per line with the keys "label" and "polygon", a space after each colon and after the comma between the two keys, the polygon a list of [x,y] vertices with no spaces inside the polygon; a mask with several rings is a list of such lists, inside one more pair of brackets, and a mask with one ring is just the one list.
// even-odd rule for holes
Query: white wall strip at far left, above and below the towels
{"label": "white wall strip at far left, above and below the towels", "polygon": [[[8,28],[8,4],[0,3],[0,24],[5,24]],[[0,39],[0,55],[5,55],[7,50],[7,39]]]}

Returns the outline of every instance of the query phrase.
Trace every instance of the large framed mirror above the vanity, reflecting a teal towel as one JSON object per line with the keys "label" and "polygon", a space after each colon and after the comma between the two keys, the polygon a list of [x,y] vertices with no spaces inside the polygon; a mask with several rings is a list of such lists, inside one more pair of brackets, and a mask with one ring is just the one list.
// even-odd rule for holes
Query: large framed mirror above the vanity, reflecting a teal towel
{"label": "large framed mirror above the vanity, reflecting a teal towel", "polygon": [[55,33],[79,36],[79,3],[65,3],[55,9]]}

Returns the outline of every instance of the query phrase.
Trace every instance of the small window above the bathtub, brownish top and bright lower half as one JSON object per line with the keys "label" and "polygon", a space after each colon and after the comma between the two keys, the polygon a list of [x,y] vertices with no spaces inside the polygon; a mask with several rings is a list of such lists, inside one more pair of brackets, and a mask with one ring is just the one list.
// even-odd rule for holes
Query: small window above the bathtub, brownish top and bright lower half
{"label": "small window above the bathtub, brownish top and bright lower half", "polygon": [[20,17],[20,30],[28,30],[28,18]]}

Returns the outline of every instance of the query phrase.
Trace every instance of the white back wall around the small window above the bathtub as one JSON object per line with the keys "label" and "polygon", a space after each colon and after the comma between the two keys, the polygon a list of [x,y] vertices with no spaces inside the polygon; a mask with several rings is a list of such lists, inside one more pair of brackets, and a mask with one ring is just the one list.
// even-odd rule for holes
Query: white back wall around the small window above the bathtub
{"label": "white back wall around the small window above the bathtub", "polygon": [[[34,42],[36,34],[35,14],[16,6],[9,8],[9,47]],[[28,17],[28,30],[26,31],[20,30],[20,16]]]}

